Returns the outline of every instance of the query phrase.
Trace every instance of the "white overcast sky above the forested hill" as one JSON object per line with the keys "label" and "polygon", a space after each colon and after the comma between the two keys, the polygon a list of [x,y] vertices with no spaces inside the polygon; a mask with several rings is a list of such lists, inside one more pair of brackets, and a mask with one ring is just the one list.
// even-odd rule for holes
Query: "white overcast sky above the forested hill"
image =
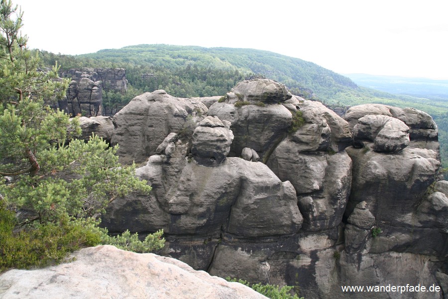
{"label": "white overcast sky above the forested hill", "polygon": [[253,48],[337,73],[448,79],[447,0],[13,0],[28,47]]}

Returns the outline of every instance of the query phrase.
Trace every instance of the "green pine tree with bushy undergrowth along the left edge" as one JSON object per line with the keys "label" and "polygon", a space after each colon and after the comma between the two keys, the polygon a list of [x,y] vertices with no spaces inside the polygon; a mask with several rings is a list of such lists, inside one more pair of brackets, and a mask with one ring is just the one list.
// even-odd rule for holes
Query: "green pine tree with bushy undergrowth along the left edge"
{"label": "green pine tree with bushy undergrowth along the left edge", "polygon": [[15,10],[1,0],[0,269],[61,262],[68,252],[127,237],[129,249],[163,246],[161,231],[139,243],[137,235],[109,239],[98,227],[98,215],[112,200],[151,187],[97,136],[72,140],[81,132],[78,119],[44,105],[64,95],[67,80],[56,80],[57,66],[37,70],[39,56],[18,44],[26,37]]}

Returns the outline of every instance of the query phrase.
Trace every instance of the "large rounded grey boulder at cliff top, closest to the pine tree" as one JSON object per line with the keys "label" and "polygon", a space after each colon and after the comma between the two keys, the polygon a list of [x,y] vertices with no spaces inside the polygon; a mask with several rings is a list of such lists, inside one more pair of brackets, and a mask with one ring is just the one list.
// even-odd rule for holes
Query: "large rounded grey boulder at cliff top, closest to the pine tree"
{"label": "large rounded grey boulder at cliff top, closest to the pine tree", "polygon": [[143,162],[170,133],[190,139],[206,112],[201,102],[175,98],[163,90],[144,93],[113,117],[112,144],[120,145],[117,154],[122,162]]}

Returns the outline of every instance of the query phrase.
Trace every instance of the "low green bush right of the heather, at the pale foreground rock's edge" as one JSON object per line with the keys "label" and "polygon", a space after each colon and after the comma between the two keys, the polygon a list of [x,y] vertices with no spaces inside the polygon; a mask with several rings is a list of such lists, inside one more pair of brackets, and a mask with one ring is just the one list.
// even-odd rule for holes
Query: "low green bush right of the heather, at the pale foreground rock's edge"
{"label": "low green bush right of the heather, at the pale foreground rock's edge", "polygon": [[143,241],[138,239],[137,233],[131,234],[129,230],[114,237],[108,235],[107,229],[103,230],[104,234],[101,236],[101,242],[103,244],[113,245],[119,249],[138,253],[148,253],[159,250],[165,246],[165,239],[162,238],[163,230],[147,235]]}

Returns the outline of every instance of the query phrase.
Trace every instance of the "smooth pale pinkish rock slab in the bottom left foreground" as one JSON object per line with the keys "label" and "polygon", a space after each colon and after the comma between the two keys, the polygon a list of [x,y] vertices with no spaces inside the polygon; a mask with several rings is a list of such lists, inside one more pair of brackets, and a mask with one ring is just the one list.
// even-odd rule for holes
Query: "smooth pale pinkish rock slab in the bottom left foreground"
{"label": "smooth pale pinkish rock slab in the bottom left foreground", "polygon": [[[44,269],[10,270],[0,276],[0,297],[40,298],[266,298],[185,263],[113,246],[82,249],[75,261]],[[119,269],[117,269],[119,261]]]}

